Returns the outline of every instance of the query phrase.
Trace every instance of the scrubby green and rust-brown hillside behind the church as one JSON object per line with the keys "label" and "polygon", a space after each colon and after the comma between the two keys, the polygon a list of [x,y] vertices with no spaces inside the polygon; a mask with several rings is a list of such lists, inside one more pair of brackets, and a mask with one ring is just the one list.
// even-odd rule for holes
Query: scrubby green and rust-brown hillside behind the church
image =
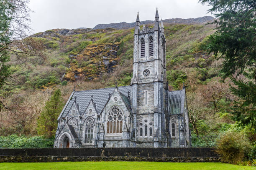
{"label": "scrubby green and rust-brown hillside behind the church", "polygon": [[[151,25],[148,25],[151,27]],[[142,27],[142,26],[141,26]],[[20,62],[11,55],[14,80],[4,85],[0,97],[7,106],[20,109],[2,112],[0,134],[36,134],[36,118],[53,90],[60,88],[67,101],[72,90],[129,85],[132,77],[134,28],[53,29],[31,38],[44,44],[45,61],[29,58]],[[166,68],[169,90],[187,86],[192,134],[217,134],[230,127],[228,105],[233,98],[228,84],[220,83],[222,62],[204,51],[213,25],[165,24]],[[26,110],[23,109],[26,107]]]}

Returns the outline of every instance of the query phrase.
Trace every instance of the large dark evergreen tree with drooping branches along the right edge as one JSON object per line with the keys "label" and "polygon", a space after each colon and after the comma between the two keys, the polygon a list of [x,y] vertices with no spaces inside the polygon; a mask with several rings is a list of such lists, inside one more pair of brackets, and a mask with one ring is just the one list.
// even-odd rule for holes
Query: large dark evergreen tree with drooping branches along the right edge
{"label": "large dark evergreen tree with drooping branches along the right edge", "polygon": [[[256,2],[255,0],[199,0],[211,6],[217,18],[216,32],[207,49],[224,59],[220,75],[234,82],[231,90],[239,97],[234,102],[234,120],[256,128]],[[239,77],[238,77],[239,76]],[[242,77],[242,78],[241,78]]]}

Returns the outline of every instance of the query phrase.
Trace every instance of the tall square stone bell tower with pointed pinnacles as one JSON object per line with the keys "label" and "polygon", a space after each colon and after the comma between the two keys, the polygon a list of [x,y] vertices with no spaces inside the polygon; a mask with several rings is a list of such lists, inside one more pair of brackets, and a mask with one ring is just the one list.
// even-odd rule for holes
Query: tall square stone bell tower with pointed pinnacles
{"label": "tall square stone bell tower with pointed pinnacles", "polygon": [[143,25],[141,28],[137,14],[131,80],[131,102],[136,137],[165,136],[165,98],[168,91],[166,90],[168,85],[166,84],[165,42],[164,25],[162,21],[159,22],[157,8],[153,26]]}

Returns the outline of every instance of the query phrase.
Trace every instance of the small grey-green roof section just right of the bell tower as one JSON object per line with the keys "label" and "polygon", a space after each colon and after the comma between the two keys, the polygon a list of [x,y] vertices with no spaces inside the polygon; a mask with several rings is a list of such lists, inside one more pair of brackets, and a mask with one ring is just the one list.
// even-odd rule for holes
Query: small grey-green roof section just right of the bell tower
{"label": "small grey-green roof section just right of the bell tower", "polygon": [[182,90],[168,92],[168,110],[170,115],[178,115],[181,110]]}

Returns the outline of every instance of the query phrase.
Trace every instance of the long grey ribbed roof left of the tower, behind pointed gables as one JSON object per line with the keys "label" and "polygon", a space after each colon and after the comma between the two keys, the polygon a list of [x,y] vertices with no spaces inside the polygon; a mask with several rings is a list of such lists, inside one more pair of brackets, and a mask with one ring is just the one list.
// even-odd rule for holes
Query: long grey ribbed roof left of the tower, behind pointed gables
{"label": "long grey ribbed roof left of the tower, behind pointed gables", "polygon": [[[61,117],[65,117],[67,115],[67,113],[69,112],[74,102],[74,97],[77,97],[76,102],[79,105],[80,112],[84,113],[86,107],[89,105],[89,102],[91,101],[91,95],[93,95],[93,102],[95,102],[97,111],[100,114],[106,102],[108,101],[108,98],[109,98],[108,94],[112,94],[114,89],[115,87],[109,87],[109,88],[102,88],[102,89],[72,92],[71,96],[69,97],[69,100],[67,101],[63,110],[61,111],[61,114],[59,115],[58,120]],[[118,91],[121,92],[123,95],[125,95],[125,97],[127,97],[128,91],[131,92],[131,86],[120,86],[118,87]]]}

